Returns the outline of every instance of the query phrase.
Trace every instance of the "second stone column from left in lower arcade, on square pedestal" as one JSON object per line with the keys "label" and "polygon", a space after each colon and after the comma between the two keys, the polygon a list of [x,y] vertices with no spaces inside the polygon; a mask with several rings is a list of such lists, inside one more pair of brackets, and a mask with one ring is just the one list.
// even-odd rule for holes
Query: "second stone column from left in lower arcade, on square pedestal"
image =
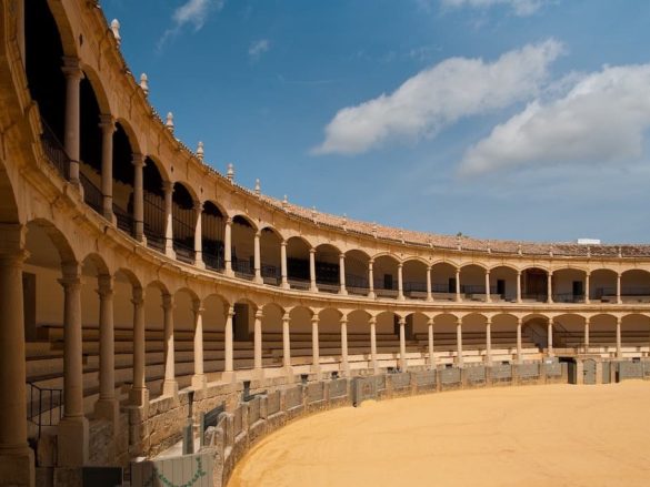
{"label": "second stone column from left in lower arcade, on square pedestal", "polygon": [[[63,278],[63,398],[59,423],[58,465],[80,467],[88,461],[88,419],[83,415],[83,351],[81,331],[81,278],[77,262],[66,263]],[[22,285],[22,284],[21,284]]]}

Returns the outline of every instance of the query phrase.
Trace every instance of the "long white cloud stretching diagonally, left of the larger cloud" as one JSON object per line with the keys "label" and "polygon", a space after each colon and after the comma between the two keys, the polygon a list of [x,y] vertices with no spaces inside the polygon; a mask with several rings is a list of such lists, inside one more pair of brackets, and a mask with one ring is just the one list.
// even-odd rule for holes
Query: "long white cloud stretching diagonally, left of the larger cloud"
{"label": "long white cloud stretching diagonally, left of the larger cloud", "polygon": [[339,110],[313,153],[354,154],[392,139],[432,136],[457,120],[534,97],[562,51],[556,40],[526,45],[492,63],[451,58],[407,80],[391,94]]}

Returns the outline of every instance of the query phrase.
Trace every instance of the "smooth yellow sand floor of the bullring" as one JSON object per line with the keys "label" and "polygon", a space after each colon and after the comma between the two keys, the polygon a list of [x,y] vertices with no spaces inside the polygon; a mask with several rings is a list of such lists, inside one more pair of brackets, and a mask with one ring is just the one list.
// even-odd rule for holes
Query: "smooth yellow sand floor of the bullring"
{"label": "smooth yellow sand floor of the bullring", "polygon": [[364,403],[267,436],[229,487],[650,486],[650,382]]}

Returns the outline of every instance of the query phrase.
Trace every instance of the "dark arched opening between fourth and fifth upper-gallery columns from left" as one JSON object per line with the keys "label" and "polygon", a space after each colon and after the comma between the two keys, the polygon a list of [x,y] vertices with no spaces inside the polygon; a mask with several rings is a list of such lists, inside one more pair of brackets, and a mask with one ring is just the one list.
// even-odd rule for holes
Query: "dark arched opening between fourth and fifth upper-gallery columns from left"
{"label": "dark arched opening between fourth and fifth upper-gallery columns from left", "polygon": [[173,251],[179,261],[194,263],[196,201],[183,183],[173,184],[171,215]]}

